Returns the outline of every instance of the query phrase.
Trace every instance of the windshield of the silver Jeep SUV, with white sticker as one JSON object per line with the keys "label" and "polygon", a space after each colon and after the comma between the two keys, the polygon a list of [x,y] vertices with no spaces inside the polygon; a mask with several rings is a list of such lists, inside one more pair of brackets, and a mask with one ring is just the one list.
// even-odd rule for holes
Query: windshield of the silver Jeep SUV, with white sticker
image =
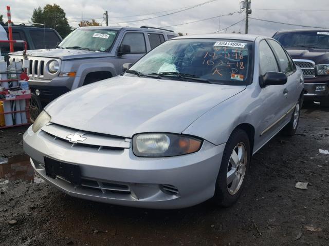
{"label": "windshield of the silver Jeep SUV, with white sticker", "polygon": [[118,31],[78,28],[64,38],[59,48],[109,51]]}

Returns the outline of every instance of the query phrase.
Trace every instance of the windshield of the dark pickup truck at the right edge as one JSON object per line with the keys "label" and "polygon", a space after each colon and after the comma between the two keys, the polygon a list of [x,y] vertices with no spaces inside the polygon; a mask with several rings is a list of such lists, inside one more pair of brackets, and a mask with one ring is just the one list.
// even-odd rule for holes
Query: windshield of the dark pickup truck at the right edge
{"label": "windshield of the dark pickup truck at the right edge", "polygon": [[329,49],[329,32],[307,31],[278,33],[274,36],[284,47]]}

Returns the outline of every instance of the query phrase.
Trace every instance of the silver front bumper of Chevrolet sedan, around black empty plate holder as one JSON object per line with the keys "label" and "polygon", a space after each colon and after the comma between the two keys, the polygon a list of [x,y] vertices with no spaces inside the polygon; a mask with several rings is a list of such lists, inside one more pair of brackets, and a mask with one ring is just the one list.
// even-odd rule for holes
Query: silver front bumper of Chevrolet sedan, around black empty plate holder
{"label": "silver front bumper of Chevrolet sedan, around black empty plate holder", "polygon": [[[68,195],[152,209],[185,208],[211,198],[225,147],[204,141],[202,148],[193,154],[141,158],[133,154],[132,148],[104,151],[81,146],[68,148],[66,142],[53,140],[42,130],[34,134],[31,127],[24,134],[23,145],[35,172]],[[44,156],[78,164],[82,178],[96,182],[99,187],[75,187],[61,178],[46,176]],[[177,193],[166,192],[163,187],[168,185]],[[111,186],[124,191],[106,190]]]}

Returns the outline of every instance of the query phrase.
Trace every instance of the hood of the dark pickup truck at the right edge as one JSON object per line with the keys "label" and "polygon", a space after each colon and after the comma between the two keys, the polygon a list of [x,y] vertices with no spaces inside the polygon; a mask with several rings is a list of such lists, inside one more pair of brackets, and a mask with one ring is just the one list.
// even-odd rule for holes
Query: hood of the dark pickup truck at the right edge
{"label": "hood of the dark pickup truck at the right edge", "polygon": [[316,64],[328,63],[329,61],[329,50],[327,49],[286,47],[286,50],[293,59],[313,60]]}

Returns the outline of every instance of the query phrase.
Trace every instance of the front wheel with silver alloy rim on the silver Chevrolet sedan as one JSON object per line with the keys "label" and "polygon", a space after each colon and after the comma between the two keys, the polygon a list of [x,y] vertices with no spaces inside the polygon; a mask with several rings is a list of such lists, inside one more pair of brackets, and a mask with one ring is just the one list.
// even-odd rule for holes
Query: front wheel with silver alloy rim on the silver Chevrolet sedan
{"label": "front wheel with silver alloy rim on the silver Chevrolet sedan", "polygon": [[245,185],[250,157],[250,140],[247,133],[241,129],[234,130],[225,145],[216,180],[214,201],[218,205],[230,207],[240,197]]}

